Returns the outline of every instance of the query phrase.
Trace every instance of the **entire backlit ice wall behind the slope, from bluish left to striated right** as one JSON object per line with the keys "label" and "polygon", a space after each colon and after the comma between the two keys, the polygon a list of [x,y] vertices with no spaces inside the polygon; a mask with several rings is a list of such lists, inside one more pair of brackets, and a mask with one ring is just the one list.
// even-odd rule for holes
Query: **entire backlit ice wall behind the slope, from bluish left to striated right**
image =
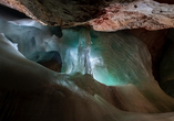
{"label": "entire backlit ice wall behind the slope, from bluish left to striated right", "polygon": [[47,53],[55,51],[61,55],[62,73],[65,74],[90,74],[108,86],[154,80],[146,46],[127,33],[74,28],[64,29],[59,38],[47,26],[31,20],[27,24],[28,21],[1,19],[0,32],[18,43],[19,51],[31,61],[37,62],[42,55],[49,59],[51,56],[45,56]]}

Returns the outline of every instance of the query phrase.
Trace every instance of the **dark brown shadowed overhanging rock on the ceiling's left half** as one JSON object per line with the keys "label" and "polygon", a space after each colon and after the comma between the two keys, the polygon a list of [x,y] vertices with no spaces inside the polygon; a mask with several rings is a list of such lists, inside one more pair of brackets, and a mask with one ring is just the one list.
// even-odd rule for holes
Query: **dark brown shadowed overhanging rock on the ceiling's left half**
{"label": "dark brown shadowed overhanging rock on the ceiling's left half", "polygon": [[0,3],[44,24],[69,26],[96,18],[106,6],[105,0],[1,0]]}

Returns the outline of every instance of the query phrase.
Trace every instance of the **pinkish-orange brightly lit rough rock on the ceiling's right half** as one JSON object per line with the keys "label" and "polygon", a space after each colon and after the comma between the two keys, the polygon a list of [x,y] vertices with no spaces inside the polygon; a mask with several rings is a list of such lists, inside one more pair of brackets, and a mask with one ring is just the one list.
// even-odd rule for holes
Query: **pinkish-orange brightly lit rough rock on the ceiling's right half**
{"label": "pinkish-orange brightly lit rough rock on the ceiling's right half", "polygon": [[96,31],[123,29],[161,30],[174,26],[174,6],[152,0],[129,4],[113,3],[105,8],[105,14],[89,22]]}

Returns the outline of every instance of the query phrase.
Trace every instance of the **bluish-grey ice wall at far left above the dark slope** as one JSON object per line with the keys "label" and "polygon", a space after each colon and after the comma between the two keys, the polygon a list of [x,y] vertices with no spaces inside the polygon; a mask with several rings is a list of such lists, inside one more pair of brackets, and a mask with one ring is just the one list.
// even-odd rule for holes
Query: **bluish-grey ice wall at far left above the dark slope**
{"label": "bluish-grey ice wall at far left above the dark slope", "polygon": [[[58,36],[61,36],[60,29],[57,30],[55,34],[50,28],[43,26],[33,20],[6,21],[0,19],[0,32],[4,33],[6,37],[12,43],[17,43],[19,52],[31,61],[38,61],[43,55],[48,55],[48,52],[58,52],[59,50]],[[49,61],[52,56],[47,57]]]}

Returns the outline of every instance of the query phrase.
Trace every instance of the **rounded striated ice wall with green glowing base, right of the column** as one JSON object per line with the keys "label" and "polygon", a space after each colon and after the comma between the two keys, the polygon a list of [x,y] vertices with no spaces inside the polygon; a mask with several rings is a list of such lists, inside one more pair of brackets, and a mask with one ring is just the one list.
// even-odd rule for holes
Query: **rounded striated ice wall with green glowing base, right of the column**
{"label": "rounded striated ice wall with green glowing base, right of the column", "polygon": [[106,85],[154,80],[151,55],[136,37],[124,32],[99,33],[92,42],[91,61],[96,80]]}

